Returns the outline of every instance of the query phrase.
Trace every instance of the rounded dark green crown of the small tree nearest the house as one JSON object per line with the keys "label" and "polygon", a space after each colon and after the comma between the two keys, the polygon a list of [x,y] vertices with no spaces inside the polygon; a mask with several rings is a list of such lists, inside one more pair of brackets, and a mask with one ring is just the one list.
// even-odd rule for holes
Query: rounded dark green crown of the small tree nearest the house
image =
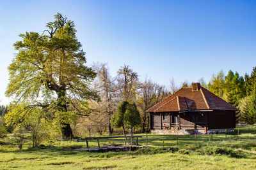
{"label": "rounded dark green crown of the small tree nearest the house", "polygon": [[135,103],[127,105],[127,110],[124,113],[124,124],[130,129],[141,124],[140,111],[138,111]]}

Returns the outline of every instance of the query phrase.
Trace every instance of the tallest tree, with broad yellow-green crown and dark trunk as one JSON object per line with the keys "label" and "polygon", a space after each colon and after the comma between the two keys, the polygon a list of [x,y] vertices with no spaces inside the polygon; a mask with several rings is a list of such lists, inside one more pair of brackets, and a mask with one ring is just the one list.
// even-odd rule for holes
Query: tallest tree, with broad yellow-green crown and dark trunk
{"label": "tallest tree, with broad yellow-green crown and dark trunk", "polygon": [[[85,66],[74,22],[60,13],[54,17],[42,34],[20,34],[22,40],[14,44],[18,53],[8,67],[6,96],[13,97],[16,104],[29,101],[40,108],[54,103],[56,110],[66,113],[74,101],[77,108],[80,100],[97,99],[90,88],[96,73]],[[63,124],[62,132],[64,137],[72,136],[68,122]]]}

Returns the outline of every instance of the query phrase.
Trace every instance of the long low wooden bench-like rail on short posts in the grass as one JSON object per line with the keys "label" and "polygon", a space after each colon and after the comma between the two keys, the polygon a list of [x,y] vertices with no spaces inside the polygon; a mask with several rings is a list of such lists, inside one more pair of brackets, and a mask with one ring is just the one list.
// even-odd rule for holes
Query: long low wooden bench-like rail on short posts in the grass
{"label": "long low wooden bench-like rail on short posts in the grass", "polygon": [[136,138],[136,146],[138,146],[138,138],[142,138],[142,136],[100,136],[100,137],[88,137],[84,139],[78,139],[77,141],[86,141],[86,148],[89,148],[88,140],[97,139],[98,147],[100,148],[99,139],[114,139],[114,138],[125,138],[124,145],[126,145],[127,138]]}

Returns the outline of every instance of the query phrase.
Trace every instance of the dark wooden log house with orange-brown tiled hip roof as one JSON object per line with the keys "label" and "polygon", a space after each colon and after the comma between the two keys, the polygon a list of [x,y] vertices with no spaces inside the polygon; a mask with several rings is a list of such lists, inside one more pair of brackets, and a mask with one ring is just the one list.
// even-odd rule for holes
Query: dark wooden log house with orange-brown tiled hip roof
{"label": "dark wooden log house with orange-brown tiled hip roof", "polygon": [[193,83],[147,110],[153,134],[209,134],[234,131],[237,108]]}

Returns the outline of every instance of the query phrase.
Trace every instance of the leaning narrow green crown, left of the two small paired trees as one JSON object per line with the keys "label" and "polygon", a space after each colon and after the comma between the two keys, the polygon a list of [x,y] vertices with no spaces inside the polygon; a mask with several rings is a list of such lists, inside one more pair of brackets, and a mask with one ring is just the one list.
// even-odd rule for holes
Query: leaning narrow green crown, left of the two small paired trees
{"label": "leaning narrow green crown, left of the two small paired trees", "polygon": [[116,112],[111,118],[111,122],[114,127],[124,127],[124,114],[128,104],[129,103],[127,101],[122,101],[118,105]]}

